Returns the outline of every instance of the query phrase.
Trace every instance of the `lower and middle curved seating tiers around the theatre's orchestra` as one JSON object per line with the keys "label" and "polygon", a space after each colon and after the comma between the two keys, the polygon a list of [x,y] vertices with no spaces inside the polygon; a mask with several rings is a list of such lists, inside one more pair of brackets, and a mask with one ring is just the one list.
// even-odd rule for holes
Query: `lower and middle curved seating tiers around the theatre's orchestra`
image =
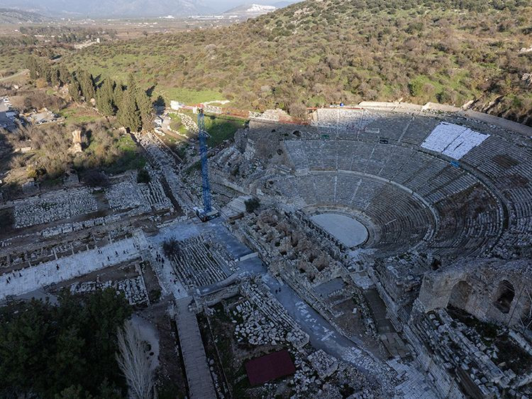
{"label": "lower and middle curved seating tiers around the theatre's orchestra", "polygon": [[[429,125],[433,129],[437,123]],[[507,201],[499,199],[496,182],[484,173],[481,180],[475,170],[416,145],[339,136],[284,141],[294,175],[270,179],[270,190],[301,208],[343,208],[362,215],[372,236],[367,246],[373,248],[416,246],[447,255],[480,255],[499,242],[509,223]],[[492,140],[489,136],[485,144]],[[480,150],[466,157],[478,157]],[[512,212],[522,215],[524,206]]]}

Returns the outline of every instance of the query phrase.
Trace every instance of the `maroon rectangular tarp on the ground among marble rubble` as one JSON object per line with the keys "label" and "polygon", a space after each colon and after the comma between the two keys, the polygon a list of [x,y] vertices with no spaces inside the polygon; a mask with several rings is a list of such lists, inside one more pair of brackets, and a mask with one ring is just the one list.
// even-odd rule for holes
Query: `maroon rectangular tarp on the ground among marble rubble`
{"label": "maroon rectangular tarp on the ground among marble rubble", "polygon": [[252,386],[260,385],[276,378],[289,376],[296,372],[296,366],[286,349],[252,359],[245,364]]}

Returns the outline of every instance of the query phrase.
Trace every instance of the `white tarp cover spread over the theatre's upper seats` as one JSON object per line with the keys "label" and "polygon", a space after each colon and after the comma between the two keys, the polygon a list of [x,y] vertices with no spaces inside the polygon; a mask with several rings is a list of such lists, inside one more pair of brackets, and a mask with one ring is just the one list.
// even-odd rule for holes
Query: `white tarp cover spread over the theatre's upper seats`
{"label": "white tarp cover spread over the theatre's upper seats", "polygon": [[489,134],[479,133],[465,126],[441,122],[421,143],[421,147],[460,159],[488,137]]}

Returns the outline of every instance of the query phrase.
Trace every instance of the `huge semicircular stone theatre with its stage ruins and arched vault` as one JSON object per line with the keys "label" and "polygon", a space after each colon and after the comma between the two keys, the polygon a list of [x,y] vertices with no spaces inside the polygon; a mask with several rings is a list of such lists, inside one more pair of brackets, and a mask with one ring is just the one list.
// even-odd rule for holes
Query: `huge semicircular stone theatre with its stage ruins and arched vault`
{"label": "huge semicircular stone theatre with its stage ruins and arched vault", "polygon": [[[238,151],[214,156],[214,176],[277,210],[245,215],[233,229],[335,325],[345,312],[321,287],[354,284],[389,354],[414,355],[442,397],[528,393],[530,369],[463,334],[455,309],[519,337],[512,351],[523,349],[529,364],[530,275],[528,261],[514,259],[530,256],[530,136],[505,121],[383,105],[318,109],[310,126],[252,121]],[[314,221],[327,214],[359,222],[367,239],[346,245],[338,226]]]}

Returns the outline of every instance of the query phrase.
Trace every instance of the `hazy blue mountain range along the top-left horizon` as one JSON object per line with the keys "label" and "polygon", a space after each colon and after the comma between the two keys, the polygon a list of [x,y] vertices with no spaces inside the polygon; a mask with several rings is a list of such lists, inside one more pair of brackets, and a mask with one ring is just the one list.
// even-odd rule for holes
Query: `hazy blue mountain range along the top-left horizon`
{"label": "hazy blue mountain range along the top-left horizon", "polygon": [[31,9],[48,16],[132,18],[189,16],[202,12],[201,0],[2,0],[3,6]]}

